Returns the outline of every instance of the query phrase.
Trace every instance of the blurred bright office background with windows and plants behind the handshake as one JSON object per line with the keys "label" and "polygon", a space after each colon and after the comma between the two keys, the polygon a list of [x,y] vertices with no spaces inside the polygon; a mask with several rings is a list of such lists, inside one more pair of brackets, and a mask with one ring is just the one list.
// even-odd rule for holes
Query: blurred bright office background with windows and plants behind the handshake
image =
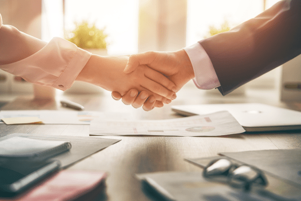
{"label": "blurred bright office background with windows and plants behind the handshake", "polygon": [[[1,0],[0,13],[3,24],[47,42],[58,36],[96,54],[128,55],[191,46],[255,17],[277,1]],[[281,77],[282,68],[276,68],[243,86],[237,94],[244,94],[246,88],[280,88]],[[0,93],[32,93],[30,85],[0,71]],[[95,87],[83,90],[81,87],[90,86],[82,85],[66,92],[101,93]]]}

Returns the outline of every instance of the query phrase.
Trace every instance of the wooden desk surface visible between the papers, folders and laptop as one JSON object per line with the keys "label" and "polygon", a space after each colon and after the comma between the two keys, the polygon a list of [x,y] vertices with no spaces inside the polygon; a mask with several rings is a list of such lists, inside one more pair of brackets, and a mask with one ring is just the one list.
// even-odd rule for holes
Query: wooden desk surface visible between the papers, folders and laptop
{"label": "wooden desk surface visible between the papers, folders and laptop", "polygon": [[[59,95],[55,101],[33,100],[32,96],[21,96],[0,108],[15,109],[59,109],[61,97],[82,104],[87,110],[131,112],[137,119],[179,118],[171,105],[216,104],[216,103],[264,103],[273,106],[301,110],[300,103],[282,103],[278,93],[268,91],[247,91],[245,95],[210,94],[195,88],[181,90],[177,99],[163,108],[145,112],[142,108],[125,106],[114,101],[110,93],[102,95]],[[89,136],[89,125],[5,125],[0,124],[0,135],[29,133],[46,135]],[[76,163],[70,169],[103,170],[109,173],[106,180],[108,201],[154,201],[152,195],[143,192],[135,173],[155,171],[200,171],[198,167],[183,158],[209,157],[221,152],[238,152],[264,149],[301,148],[301,134],[294,132],[266,134],[237,134],[222,137],[104,137],[122,139],[106,149]]]}

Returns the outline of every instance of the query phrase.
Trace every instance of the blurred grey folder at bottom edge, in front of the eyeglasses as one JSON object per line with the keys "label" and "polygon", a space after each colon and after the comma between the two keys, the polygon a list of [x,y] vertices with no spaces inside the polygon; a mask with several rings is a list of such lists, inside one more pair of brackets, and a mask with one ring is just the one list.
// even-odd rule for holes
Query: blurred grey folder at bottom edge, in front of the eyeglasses
{"label": "blurred grey folder at bottom edge, in front of the eyeglasses", "polygon": [[[236,190],[228,185],[207,181],[202,172],[152,172],[136,174],[143,190],[165,201],[275,201],[257,193]],[[160,195],[157,199],[155,195]],[[162,200],[162,199],[160,199]]]}

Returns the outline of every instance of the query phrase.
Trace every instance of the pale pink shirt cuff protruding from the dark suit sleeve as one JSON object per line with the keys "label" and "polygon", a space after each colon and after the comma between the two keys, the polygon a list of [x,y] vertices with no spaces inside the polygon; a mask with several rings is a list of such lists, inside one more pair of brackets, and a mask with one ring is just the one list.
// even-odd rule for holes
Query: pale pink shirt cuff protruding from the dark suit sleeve
{"label": "pale pink shirt cuff protruding from the dark suit sleeve", "polygon": [[203,47],[196,43],[192,46],[183,48],[194,68],[195,86],[198,89],[214,89],[220,86],[212,62]]}

